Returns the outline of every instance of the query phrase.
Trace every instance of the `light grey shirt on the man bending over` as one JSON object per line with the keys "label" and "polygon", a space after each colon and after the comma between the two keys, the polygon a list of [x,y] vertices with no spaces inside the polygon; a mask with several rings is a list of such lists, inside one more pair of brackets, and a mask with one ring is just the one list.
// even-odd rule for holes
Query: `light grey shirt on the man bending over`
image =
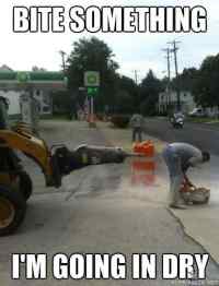
{"label": "light grey shirt on the man bending over", "polygon": [[184,170],[186,170],[188,166],[195,167],[203,163],[203,154],[199,148],[187,143],[172,143],[170,146],[180,157]]}

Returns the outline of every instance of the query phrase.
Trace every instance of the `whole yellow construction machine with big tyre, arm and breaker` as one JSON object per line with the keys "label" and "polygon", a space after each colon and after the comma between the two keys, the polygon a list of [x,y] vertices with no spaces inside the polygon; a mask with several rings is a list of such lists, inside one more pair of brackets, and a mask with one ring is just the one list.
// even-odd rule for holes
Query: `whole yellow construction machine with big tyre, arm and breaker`
{"label": "whole yellow construction machine with big tyre, arm and breaker", "polygon": [[89,165],[123,163],[129,154],[118,147],[80,145],[69,151],[65,145],[48,148],[24,123],[10,129],[7,123],[5,98],[0,97],[0,236],[14,233],[26,213],[32,194],[32,180],[16,151],[32,158],[42,169],[46,187],[59,188],[64,176]]}

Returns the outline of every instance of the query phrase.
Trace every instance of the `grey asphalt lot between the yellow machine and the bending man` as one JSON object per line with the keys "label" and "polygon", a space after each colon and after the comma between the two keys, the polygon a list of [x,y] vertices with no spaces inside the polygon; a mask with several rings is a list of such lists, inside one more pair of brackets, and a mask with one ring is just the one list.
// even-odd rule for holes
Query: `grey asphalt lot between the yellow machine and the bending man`
{"label": "grey asphalt lot between the yellow machine and the bending man", "polygon": [[[70,148],[81,143],[107,145],[129,142],[130,131],[89,129],[87,122],[45,121],[41,135],[48,142],[66,143]],[[107,135],[107,136],[106,136]],[[110,142],[111,141],[111,142]],[[34,194],[28,202],[26,218],[16,234],[0,239],[1,285],[30,285],[23,276],[11,279],[11,253],[204,253],[205,250],[187,237],[182,225],[170,214],[162,183],[152,188],[130,183],[130,165],[91,166],[72,172],[59,190],[44,187],[39,169],[28,159],[24,165],[34,181]],[[157,176],[160,176],[161,169]],[[159,187],[160,186],[160,187]],[[72,195],[73,194],[73,195]],[[50,264],[48,279],[31,281],[31,285],[199,285],[198,282],[132,281],[129,260],[127,281],[56,281]],[[194,277],[195,278],[195,277]],[[218,265],[210,259],[207,278],[219,281]],[[205,281],[204,285],[211,285]]]}

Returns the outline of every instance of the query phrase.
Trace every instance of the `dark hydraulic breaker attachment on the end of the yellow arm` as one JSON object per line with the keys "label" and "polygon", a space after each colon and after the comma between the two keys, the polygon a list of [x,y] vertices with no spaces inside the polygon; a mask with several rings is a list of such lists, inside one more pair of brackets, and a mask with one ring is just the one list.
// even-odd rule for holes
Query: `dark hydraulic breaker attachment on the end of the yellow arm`
{"label": "dark hydraulic breaker attachment on the end of the yellow arm", "polygon": [[127,153],[119,147],[80,145],[69,151],[65,145],[58,146],[51,156],[56,187],[61,186],[61,178],[71,171],[90,165],[123,163],[127,157],[143,157],[142,154]]}

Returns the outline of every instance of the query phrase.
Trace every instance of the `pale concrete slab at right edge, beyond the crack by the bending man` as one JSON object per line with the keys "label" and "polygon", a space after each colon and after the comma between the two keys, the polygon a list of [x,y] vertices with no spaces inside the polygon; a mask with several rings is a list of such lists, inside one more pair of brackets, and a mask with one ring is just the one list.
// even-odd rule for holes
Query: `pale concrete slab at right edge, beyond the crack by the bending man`
{"label": "pale concrete slab at right edge, beyond the crack by the bending man", "polygon": [[188,175],[196,186],[211,190],[207,205],[189,206],[187,211],[171,211],[184,225],[185,231],[199,242],[219,264],[219,193],[218,193],[218,156],[211,156],[209,165],[194,169]]}

